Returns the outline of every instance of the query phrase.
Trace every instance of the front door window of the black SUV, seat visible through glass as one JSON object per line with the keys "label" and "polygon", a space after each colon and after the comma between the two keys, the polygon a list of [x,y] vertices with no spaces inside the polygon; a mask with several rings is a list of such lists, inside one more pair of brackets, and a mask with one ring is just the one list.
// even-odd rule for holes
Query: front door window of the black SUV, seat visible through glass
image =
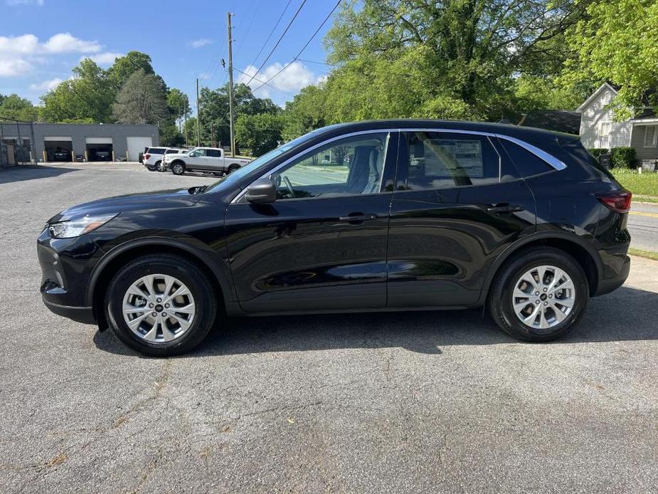
{"label": "front door window of the black SUV, seat visible through glass", "polygon": [[381,189],[388,134],[331,142],[272,174],[277,199],[376,194]]}

